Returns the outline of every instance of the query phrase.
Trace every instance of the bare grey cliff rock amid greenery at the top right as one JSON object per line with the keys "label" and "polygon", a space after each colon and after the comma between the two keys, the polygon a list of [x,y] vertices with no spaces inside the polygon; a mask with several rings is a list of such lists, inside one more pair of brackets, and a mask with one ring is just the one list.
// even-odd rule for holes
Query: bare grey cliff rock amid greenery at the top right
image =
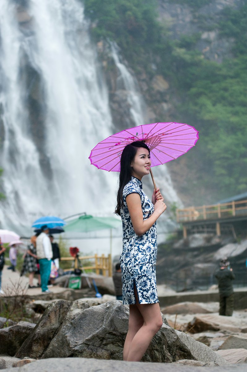
{"label": "bare grey cliff rock amid greenery at the top right", "polygon": [[195,48],[201,51],[203,58],[220,63],[223,58],[231,57],[234,43],[233,38],[222,37],[217,28],[222,10],[226,7],[239,9],[244,3],[244,0],[202,1],[202,6],[195,8],[186,1],[159,0],[159,18],[169,25],[171,38],[199,34]]}

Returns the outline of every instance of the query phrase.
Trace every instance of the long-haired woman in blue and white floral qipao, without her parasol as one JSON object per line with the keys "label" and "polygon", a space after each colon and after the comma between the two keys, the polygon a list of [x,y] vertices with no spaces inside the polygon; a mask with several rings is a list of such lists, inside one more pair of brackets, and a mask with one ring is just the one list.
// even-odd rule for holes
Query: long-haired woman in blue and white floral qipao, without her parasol
{"label": "long-haired woman in blue and white floral qipao, without her parasol", "polygon": [[139,361],[162,326],[155,272],[156,221],[166,205],[159,189],[154,190],[152,202],[142,190],[142,177],[151,166],[150,150],[143,141],[127,145],[120,164],[116,213],[123,222],[123,304],[130,305],[123,359]]}

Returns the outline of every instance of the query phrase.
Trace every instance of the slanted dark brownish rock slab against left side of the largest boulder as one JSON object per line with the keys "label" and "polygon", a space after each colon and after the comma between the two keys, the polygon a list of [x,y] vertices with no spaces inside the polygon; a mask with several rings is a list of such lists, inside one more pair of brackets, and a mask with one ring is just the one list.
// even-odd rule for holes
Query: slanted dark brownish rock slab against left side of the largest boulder
{"label": "slanted dark brownish rock slab against left side of the largest boulder", "polygon": [[52,302],[19,350],[15,350],[16,357],[23,359],[28,356],[38,359],[55,336],[70,306],[70,301]]}

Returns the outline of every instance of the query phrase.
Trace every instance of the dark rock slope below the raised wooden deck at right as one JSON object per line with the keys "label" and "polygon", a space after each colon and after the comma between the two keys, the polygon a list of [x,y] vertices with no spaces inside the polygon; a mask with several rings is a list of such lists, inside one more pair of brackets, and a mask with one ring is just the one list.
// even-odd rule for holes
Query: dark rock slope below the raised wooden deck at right
{"label": "dark rock slope below the raised wooden deck at right", "polygon": [[186,239],[160,244],[157,255],[157,283],[176,291],[205,290],[217,283],[215,272],[228,257],[235,274],[234,286],[246,285],[247,240],[234,242],[231,236],[193,234]]}

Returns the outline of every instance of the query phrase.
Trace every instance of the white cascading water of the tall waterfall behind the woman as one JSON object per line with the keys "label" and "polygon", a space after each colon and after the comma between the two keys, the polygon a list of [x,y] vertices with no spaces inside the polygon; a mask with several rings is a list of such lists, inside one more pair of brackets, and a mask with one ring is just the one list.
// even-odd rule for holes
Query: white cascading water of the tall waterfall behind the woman
{"label": "white cascading water of the tall waterfall behind the woman", "polygon": [[[18,22],[16,3],[0,3],[0,152],[7,196],[0,224],[24,235],[41,215],[112,213],[118,174],[88,160],[114,125],[82,3],[29,0],[26,23]],[[130,115],[136,125],[145,124],[136,83],[114,45],[112,54]],[[165,166],[159,170],[168,199],[178,201]]]}

